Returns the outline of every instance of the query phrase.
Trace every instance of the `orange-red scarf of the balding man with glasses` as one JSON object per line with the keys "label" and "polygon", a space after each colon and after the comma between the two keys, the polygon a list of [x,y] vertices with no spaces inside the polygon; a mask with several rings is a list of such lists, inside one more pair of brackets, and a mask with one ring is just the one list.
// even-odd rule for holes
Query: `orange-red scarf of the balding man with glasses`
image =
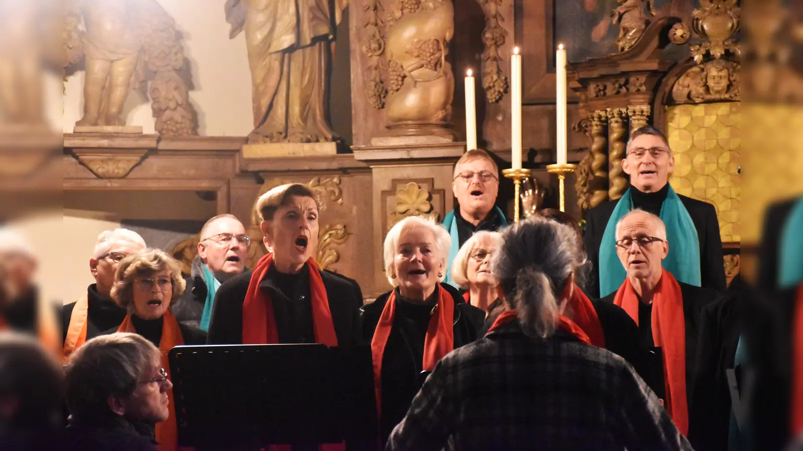
{"label": "orange-red scarf of the balding man with glasses", "polygon": [[[680,433],[689,432],[686,400],[686,323],[683,318],[683,294],[675,277],[662,270],[655,286],[652,309],[653,341],[663,352],[663,377],[666,385],[666,411]],[[638,296],[630,278],[619,287],[613,303],[625,309],[638,325]]]}

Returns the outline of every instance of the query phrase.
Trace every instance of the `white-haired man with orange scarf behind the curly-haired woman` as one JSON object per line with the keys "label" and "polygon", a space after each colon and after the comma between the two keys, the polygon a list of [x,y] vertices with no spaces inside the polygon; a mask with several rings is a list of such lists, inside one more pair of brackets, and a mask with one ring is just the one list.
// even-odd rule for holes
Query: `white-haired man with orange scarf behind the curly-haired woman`
{"label": "white-haired man with orange scarf behind the curly-haired woman", "polygon": [[98,235],[89,270],[95,283],[87,287],[74,303],[64,306],[63,356],[66,359],[88,339],[102,335],[123,322],[125,309],[112,301],[111,292],[117,265],[128,255],[145,250],[145,240],[132,230],[105,230]]}

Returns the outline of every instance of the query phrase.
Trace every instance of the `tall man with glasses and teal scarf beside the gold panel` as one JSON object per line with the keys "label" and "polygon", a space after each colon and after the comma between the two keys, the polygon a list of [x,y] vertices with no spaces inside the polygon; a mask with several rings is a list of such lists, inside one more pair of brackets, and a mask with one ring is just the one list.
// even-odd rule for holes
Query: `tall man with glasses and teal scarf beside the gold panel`
{"label": "tall man with glasses and teal scarf beside the gold panel", "polygon": [[630,176],[630,189],[622,198],[598,205],[585,215],[585,250],[593,264],[586,293],[606,296],[625,280],[613,242],[616,224],[632,209],[653,213],[666,224],[673,246],[663,266],[680,282],[724,291],[725,269],[716,210],[707,202],[675,193],[669,185],[675,157],[666,136],[650,126],[632,132],[622,169]]}

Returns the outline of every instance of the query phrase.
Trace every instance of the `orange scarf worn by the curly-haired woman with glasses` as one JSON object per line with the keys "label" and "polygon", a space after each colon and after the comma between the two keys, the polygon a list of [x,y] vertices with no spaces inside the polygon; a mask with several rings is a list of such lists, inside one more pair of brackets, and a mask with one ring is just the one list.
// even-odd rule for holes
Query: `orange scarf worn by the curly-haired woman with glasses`
{"label": "orange scarf worn by the curly-haired woman with glasses", "polygon": [[[78,306],[75,306],[78,307]],[[131,322],[131,314],[125,315],[123,323],[117,328],[118,332],[130,332],[136,334],[137,330]],[[178,327],[178,321],[173,313],[165,311],[162,316],[161,324],[161,339],[159,340],[159,351],[161,352],[161,368],[165,368],[167,376],[170,377],[170,363],[167,358],[168,352],[173,347],[181,346],[184,344],[184,338],[181,337],[181,329]],[[168,408],[170,416],[165,421],[160,421],[156,424],[156,441],[159,442],[157,449],[159,451],[175,451],[178,447],[178,426],[176,423],[176,409],[173,406],[173,390],[167,392]]]}

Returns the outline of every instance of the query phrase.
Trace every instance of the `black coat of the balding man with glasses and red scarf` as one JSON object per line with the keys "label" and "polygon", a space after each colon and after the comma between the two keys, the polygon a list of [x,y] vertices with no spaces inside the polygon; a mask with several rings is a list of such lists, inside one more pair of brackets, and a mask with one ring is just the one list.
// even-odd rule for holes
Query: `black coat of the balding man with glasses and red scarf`
{"label": "black coat of the balding man with glasses and red scarf", "polygon": [[[703,310],[708,304],[715,302],[718,294],[710,288],[700,288],[683,282],[678,283],[683,296],[683,323],[686,330],[686,399],[689,406],[689,416],[691,417],[691,409],[694,408],[692,396],[697,368],[697,346],[700,338],[699,324],[703,316]],[[601,301],[613,303],[615,296],[616,292],[614,291],[602,298]]]}

